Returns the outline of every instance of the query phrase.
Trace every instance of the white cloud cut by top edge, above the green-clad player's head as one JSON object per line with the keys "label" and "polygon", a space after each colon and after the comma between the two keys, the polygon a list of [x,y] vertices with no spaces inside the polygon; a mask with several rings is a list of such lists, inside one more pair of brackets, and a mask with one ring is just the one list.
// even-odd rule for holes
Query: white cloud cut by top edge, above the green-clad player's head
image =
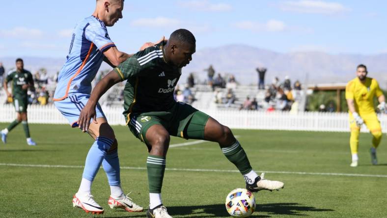
{"label": "white cloud cut by top edge, above the green-clad player's head", "polygon": [[190,8],[198,11],[230,11],[231,5],[225,3],[211,3],[208,0],[186,0],[179,1],[181,7]]}

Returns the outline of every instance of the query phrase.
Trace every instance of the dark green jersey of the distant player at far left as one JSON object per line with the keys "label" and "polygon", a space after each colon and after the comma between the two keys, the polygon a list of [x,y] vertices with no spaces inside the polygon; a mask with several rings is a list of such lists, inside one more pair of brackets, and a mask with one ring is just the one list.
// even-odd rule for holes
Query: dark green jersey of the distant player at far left
{"label": "dark green jersey of the distant player at far left", "polygon": [[6,82],[12,82],[12,95],[14,98],[27,98],[28,89],[23,89],[25,84],[33,83],[32,74],[28,70],[22,72],[13,71],[5,78]]}

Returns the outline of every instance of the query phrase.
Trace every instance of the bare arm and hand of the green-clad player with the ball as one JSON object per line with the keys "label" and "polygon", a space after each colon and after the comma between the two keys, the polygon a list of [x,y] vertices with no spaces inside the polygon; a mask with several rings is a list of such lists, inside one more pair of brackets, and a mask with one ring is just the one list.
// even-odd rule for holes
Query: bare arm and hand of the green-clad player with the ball
{"label": "bare arm and hand of the green-clad player with the ball", "polygon": [[111,88],[114,84],[121,82],[121,77],[112,70],[106,77],[104,77],[97,85],[94,87],[91,92],[90,98],[87,101],[87,104],[81,110],[81,114],[78,118],[79,128],[86,132],[90,125],[90,120],[93,118],[93,122],[96,121],[95,107],[97,106],[98,100],[101,96]]}

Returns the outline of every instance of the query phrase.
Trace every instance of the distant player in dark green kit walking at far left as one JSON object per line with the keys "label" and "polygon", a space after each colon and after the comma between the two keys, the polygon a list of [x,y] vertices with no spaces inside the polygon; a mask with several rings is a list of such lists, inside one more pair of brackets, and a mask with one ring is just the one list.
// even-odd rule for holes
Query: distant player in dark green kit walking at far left
{"label": "distant player in dark green kit walking at far left", "polygon": [[[12,82],[12,93],[8,91],[8,82]],[[27,122],[27,107],[28,107],[28,88],[34,89],[32,74],[24,69],[23,59],[16,59],[16,70],[8,73],[3,87],[8,97],[12,97],[13,105],[16,110],[16,120],[9,124],[9,126],[1,131],[1,140],[5,144],[7,142],[7,134],[19,123],[23,124],[24,133],[27,137],[28,145],[36,145],[36,143],[29,136],[28,122]]]}

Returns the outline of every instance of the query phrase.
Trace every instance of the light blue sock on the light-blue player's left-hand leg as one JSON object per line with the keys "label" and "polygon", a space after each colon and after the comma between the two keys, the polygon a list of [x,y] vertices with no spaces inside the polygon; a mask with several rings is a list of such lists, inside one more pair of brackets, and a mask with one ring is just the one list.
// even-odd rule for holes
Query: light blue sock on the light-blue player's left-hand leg
{"label": "light blue sock on the light-blue player's left-hand leg", "polygon": [[82,177],[93,181],[95,175],[104,160],[107,151],[109,151],[113,140],[107,137],[97,137],[87,153],[86,162],[84,164]]}

